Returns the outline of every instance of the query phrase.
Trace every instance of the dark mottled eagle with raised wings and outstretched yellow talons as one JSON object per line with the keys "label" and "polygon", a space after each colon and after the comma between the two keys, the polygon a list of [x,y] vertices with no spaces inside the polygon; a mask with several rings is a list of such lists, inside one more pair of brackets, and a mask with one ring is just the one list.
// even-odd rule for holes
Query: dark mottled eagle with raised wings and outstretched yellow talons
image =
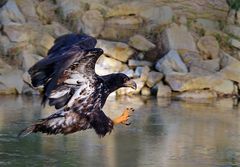
{"label": "dark mottled eagle with raised wings and outstretched yellow talons", "polygon": [[71,134],[94,129],[99,137],[110,133],[116,124],[128,123],[134,111],[127,108],[122,115],[110,119],[102,108],[110,93],[121,87],[137,88],[123,73],[99,76],[95,64],[103,54],[95,48],[97,40],[85,34],[58,37],[47,56],[29,69],[33,87],[43,86],[42,104],[48,101],[56,112],[22,130],[18,136],[31,133]]}

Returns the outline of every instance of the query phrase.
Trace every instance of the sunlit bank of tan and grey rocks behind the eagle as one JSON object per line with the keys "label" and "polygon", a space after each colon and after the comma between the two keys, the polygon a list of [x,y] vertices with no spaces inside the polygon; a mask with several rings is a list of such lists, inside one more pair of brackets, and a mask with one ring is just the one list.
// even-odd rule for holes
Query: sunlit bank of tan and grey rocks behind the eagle
{"label": "sunlit bank of tan and grey rocks behind the eagle", "polygon": [[0,94],[38,94],[27,70],[71,32],[98,39],[99,75],[123,72],[136,81],[137,90],[115,95],[240,94],[240,18],[236,24],[227,17],[224,0],[1,0],[0,6]]}

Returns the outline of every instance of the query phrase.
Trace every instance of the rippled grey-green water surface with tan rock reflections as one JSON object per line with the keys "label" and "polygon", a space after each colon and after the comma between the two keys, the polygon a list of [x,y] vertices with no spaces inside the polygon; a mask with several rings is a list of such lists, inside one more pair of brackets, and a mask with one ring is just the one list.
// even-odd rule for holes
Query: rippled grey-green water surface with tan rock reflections
{"label": "rippled grey-green water surface with tan rock reflections", "polygon": [[109,99],[104,111],[110,117],[136,109],[130,127],[118,126],[103,139],[92,130],[17,139],[22,128],[52,112],[39,103],[39,97],[0,97],[0,166],[240,166],[239,109],[231,99]]}

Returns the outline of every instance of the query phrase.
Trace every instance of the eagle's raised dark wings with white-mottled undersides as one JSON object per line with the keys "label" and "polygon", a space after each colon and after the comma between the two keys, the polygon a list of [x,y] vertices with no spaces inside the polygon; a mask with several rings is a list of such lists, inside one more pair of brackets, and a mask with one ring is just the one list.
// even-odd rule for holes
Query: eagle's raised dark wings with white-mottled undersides
{"label": "eagle's raised dark wings with white-mottled undersides", "polygon": [[62,36],[56,39],[48,56],[29,69],[32,85],[44,86],[43,104],[55,91],[50,105],[61,108],[83,81],[88,84],[94,82],[95,63],[103,53],[102,49],[94,48],[95,45],[96,39],[87,35]]}

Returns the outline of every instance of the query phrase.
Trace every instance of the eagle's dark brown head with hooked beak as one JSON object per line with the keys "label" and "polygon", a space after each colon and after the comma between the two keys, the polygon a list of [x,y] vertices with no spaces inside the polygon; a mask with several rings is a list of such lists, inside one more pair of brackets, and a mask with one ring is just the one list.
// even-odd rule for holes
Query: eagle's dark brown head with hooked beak
{"label": "eagle's dark brown head with hooked beak", "polygon": [[110,92],[113,92],[121,87],[130,87],[137,89],[137,84],[123,73],[115,73],[102,76],[105,84],[108,85]]}

